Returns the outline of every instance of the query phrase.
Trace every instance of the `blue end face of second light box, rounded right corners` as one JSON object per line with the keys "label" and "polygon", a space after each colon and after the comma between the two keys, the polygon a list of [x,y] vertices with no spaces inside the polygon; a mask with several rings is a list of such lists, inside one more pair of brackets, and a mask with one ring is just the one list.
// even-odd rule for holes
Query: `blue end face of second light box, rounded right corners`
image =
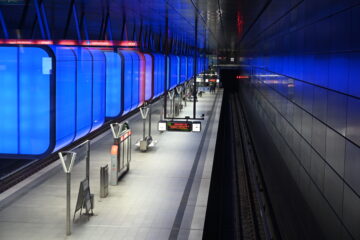
{"label": "blue end face of second light box, rounded right corners", "polygon": [[122,59],[116,52],[105,52],[106,57],[106,117],[117,117],[122,112]]}

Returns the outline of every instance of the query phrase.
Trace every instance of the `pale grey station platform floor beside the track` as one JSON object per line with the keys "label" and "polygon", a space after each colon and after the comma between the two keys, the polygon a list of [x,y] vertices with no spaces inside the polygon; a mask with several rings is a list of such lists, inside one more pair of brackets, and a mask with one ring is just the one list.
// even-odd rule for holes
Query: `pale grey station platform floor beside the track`
{"label": "pale grey station platform floor beside the track", "polygon": [[[201,239],[218,132],[222,90],[205,93],[197,103],[205,115],[200,133],[157,131],[162,101],[152,105],[152,136],[157,145],[140,152],[140,113],[128,119],[133,131],[130,171],[109,195],[100,198],[100,167],[110,162],[111,131],[91,141],[90,190],[94,216],[72,223],[66,236],[66,176],[60,160],[0,195],[0,239]],[[192,116],[189,102],[180,116]],[[74,213],[85,161],[71,173]]]}

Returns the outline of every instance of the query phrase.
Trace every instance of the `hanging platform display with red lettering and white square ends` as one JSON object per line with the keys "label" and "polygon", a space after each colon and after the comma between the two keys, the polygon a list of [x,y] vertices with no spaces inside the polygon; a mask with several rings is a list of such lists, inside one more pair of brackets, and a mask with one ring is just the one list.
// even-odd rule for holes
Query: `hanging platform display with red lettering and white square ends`
{"label": "hanging platform display with red lettering and white square ends", "polygon": [[200,132],[201,122],[191,121],[160,121],[158,130],[161,132]]}

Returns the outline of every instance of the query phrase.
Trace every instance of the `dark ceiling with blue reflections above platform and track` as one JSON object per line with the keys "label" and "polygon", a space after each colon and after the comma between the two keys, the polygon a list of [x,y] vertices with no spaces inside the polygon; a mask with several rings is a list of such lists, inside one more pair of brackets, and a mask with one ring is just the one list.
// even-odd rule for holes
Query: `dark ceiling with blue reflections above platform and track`
{"label": "dark ceiling with blue reflections above platform and track", "polygon": [[[164,36],[165,15],[168,8],[170,37],[186,40],[189,45],[193,45],[196,13],[199,20],[198,46],[203,48],[206,36],[206,47],[213,53],[239,50],[240,46],[246,45],[244,42],[251,41],[261,29],[266,28],[266,20],[270,20],[269,17],[275,19],[277,12],[282,12],[284,5],[288,7],[297,2],[297,0],[28,0],[30,6],[34,1],[44,3],[53,39],[63,38],[59,33],[66,28],[66,19],[72,1],[76,4],[79,16],[85,13],[90,39],[98,39],[98,32],[107,9],[109,9],[114,40],[120,39],[124,13],[127,28],[134,29],[134,26],[139,28],[142,22],[146,29],[152,29],[155,33]],[[1,5],[0,9],[12,37],[18,37],[19,32],[22,38],[34,37],[33,33],[29,34],[31,29],[34,29],[36,20],[34,7],[27,12],[25,18],[24,6]],[[258,21],[258,16],[264,9],[269,9],[261,16],[265,21]],[[25,21],[24,19],[22,21],[22,18]],[[18,31],[20,25],[22,30]],[[76,36],[75,28],[69,27],[69,29],[70,36],[67,38]]]}

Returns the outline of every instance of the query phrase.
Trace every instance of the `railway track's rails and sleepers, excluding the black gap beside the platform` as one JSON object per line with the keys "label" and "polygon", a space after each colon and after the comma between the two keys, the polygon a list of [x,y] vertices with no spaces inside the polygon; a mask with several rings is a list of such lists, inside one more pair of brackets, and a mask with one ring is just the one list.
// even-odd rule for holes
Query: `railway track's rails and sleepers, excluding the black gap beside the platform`
{"label": "railway track's rails and sleepers, excluding the black gap beside the platform", "polygon": [[229,96],[241,239],[279,239],[264,180],[238,93]]}

